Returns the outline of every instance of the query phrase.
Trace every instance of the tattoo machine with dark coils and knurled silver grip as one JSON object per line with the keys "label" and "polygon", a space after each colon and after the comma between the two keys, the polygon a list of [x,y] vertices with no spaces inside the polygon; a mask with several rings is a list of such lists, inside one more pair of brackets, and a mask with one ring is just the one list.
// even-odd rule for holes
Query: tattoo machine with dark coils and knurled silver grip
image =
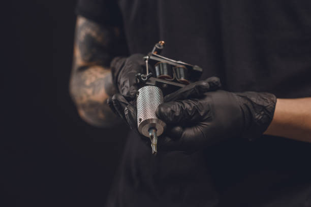
{"label": "tattoo machine with dark coils and knurled silver grip", "polygon": [[[136,75],[139,85],[136,99],[138,131],[150,138],[152,154],[157,154],[158,136],[166,128],[166,123],[155,115],[158,106],[164,101],[164,95],[197,81],[202,75],[202,68],[197,65],[161,56],[164,45],[164,41],[155,44],[144,57],[145,74]],[[150,73],[150,66],[155,74]]]}

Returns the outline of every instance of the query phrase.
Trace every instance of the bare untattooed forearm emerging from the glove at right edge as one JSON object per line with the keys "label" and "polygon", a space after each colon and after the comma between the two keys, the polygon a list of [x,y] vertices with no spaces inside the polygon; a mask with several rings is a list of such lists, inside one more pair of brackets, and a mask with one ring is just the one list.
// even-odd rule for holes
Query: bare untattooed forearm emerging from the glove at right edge
{"label": "bare untattooed forearm emerging from the glove at right edge", "polygon": [[264,134],[311,143],[311,97],[278,98],[272,122]]}

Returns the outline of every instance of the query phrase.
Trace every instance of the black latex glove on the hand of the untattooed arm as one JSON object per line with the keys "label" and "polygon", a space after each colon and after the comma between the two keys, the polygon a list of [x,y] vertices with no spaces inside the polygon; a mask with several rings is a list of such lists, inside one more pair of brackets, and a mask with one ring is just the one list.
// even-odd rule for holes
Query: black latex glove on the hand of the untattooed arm
{"label": "black latex glove on the hand of the untattooed arm", "polygon": [[[159,143],[166,150],[193,151],[233,137],[254,140],[272,121],[276,97],[270,93],[206,92],[201,98],[184,96],[182,90],[165,97],[157,116],[167,124],[179,125],[171,140]],[[167,102],[168,101],[168,102]]]}

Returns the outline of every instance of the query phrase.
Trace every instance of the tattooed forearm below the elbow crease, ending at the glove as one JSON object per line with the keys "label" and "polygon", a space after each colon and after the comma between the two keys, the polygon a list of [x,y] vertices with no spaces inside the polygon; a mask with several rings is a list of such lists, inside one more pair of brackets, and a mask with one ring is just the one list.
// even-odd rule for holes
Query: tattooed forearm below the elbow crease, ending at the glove
{"label": "tattooed forearm below the elbow crease, ending at the glove", "polygon": [[71,94],[80,117],[87,123],[109,127],[119,122],[106,101],[114,93],[111,72],[102,66],[91,66],[74,74]]}

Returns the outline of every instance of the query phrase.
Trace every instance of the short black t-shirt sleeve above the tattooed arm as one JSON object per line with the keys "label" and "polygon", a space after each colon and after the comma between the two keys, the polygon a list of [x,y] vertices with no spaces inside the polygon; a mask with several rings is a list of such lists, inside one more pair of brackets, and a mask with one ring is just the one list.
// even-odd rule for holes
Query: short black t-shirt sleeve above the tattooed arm
{"label": "short black t-shirt sleeve above the tattooed arm", "polygon": [[107,26],[122,25],[122,15],[114,0],[78,0],[76,14]]}

